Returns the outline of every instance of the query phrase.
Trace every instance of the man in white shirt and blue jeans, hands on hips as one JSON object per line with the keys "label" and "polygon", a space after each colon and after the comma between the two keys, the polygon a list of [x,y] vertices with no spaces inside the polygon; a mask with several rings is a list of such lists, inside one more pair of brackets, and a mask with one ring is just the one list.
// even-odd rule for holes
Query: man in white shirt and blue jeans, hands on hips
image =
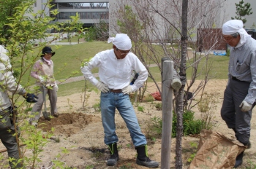
{"label": "man in white shirt and blue jeans, hands on hips", "polygon": [[[116,165],[119,160],[115,125],[115,110],[118,109],[137,149],[136,163],[148,168],[156,168],[159,163],[148,158],[146,137],[141,133],[135,110],[129,101],[129,93],[142,87],[143,82],[148,78],[148,71],[137,56],[130,52],[132,42],[127,34],[116,34],[116,37],[108,39],[108,43],[110,42],[113,43],[112,50],[97,53],[81,69],[85,78],[101,91],[100,108],[105,133],[104,142],[110,149],[110,159],[107,165]],[[99,81],[91,74],[91,69],[94,67],[99,68]],[[134,84],[130,85],[133,70],[139,76]]]}

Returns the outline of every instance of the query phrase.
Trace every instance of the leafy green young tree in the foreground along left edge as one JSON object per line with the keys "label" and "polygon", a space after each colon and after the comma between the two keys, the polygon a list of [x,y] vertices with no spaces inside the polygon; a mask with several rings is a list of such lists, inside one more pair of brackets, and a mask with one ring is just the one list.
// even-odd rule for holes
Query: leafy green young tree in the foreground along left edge
{"label": "leafy green young tree in the foreground along left edge", "polygon": [[[34,93],[34,90],[36,90],[31,87],[34,81],[30,77],[24,79],[24,76],[30,73],[34,62],[39,59],[42,53],[42,48],[51,43],[47,41],[48,36],[51,35],[46,34],[46,32],[52,28],[55,28],[56,31],[62,29],[63,32],[74,30],[79,20],[79,16],[76,15],[71,17],[72,20],[69,21],[69,24],[51,24],[54,18],[49,17],[48,12],[39,10],[37,13],[33,13],[34,2],[34,0],[14,0],[1,1],[0,3],[0,44],[4,44],[6,47],[12,67],[7,65],[8,63],[0,61],[6,66],[7,71],[14,72],[16,82],[18,84],[22,83],[26,92],[29,93]],[[52,7],[50,1],[47,1],[44,5],[49,9]],[[58,13],[56,10],[50,10],[50,12],[53,15]],[[56,38],[58,39],[59,36],[61,34],[56,35]],[[37,47],[34,47],[36,39],[42,39],[42,42],[39,42]],[[12,95],[10,93],[8,96],[10,101],[12,101],[12,105],[18,106],[18,117],[20,119],[31,117],[28,114],[29,109],[31,109],[31,103],[26,103],[23,99],[20,101],[19,95]],[[37,165],[41,161],[39,154],[44,150],[44,146],[48,143],[47,138],[51,134],[43,134],[41,130],[37,130],[34,126],[29,125],[26,120],[20,120],[15,125],[20,127],[21,133],[20,138],[16,138],[17,142],[26,144],[26,147],[23,148],[24,152],[31,152],[29,154],[22,154],[19,151],[24,168],[38,168]],[[16,130],[15,135],[18,135],[18,130]]]}

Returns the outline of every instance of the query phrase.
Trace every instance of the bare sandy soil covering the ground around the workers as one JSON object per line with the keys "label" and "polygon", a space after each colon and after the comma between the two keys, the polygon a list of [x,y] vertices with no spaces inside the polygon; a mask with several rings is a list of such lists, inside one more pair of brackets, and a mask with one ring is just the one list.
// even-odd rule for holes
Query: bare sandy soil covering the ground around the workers
{"label": "bare sandy soil covering the ground around the workers", "polygon": [[[227,137],[234,138],[233,130],[230,130],[225,125],[225,122],[221,119],[219,112],[222,106],[223,93],[227,80],[211,80],[208,82],[205,92],[214,93],[218,95],[218,103],[214,110],[215,124],[214,130],[217,130]],[[195,84],[196,88],[196,84]],[[191,92],[195,90],[192,87]],[[146,95],[154,93],[157,88],[154,84],[148,84]],[[109,157],[107,146],[105,146],[103,138],[103,127],[101,121],[101,115],[99,111],[96,111],[93,106],[99,103],[99,93],[90,92],[88,101],[85,102],[86,110],[83,110],[83,93],[76,93],[58,98],[58,109],[60,116],[58,118],[51,119],[50,122],[45,121],[42,117],[39,121],[39,130],[47,131],[51,127],[54,127],[54,138],[59,138],[60,142],[56,142],[53,139],[49,139],[49,143],[45,146],[44,152],[39,156],[42,162],[39,162],[39,166],[47,166],[51,160],[61,160],[65,162],[70,168],[145,168],[136,165],[136,151],[132,145],[129,131],[124,123],[124,120],[116,111],[116,133],[118,135],[118,147],[120,148],[119,156],[120,160],[118,164],[113,167],[105,165],[106,160]],[[193,98],[192,103],[195,103],[198,96]],[[144,134],[148,131],[148,122],[151,118],[162,117],[162,111],[157,110],[155,105],[161,103],[161,101],[154,101],[153,103],[134,103],[135,111],[137,113],[138,120],[140,122],[141,129]],[[48,103],[49,105],[49,103]],[[138,111],[138,106],[142,106],[144,111]],[[195,111],[195,117],[200,117],[200,112],[197,106],[192,109]],[[255,114],[255,110],[253,115]],[[244,154],[244,163],[241,168],[252,168],[252,164],[256,165],[256,120],[252,116],[252,132],[251,142],[252,148],[246,149]],[[198,143],[200,135],[184,136],[182,142],[183,148],[183,163],[184,168],[189,167],[189,156],[195,151],[190,144]],[[171,168],[175,168],[175,147],[176,138],[172,138],[172,148],[170,163]],[[66,148],[69,152],[67,154],[61,153],[61,147]],[[0,144],[0,149],[4,149],[4,146]],[[26,152],[31,153],[31,152]],[[7,153],[3,153],[7,156]],[[57,157],[61,154],[60,157]],[[148,155],[151,160],[161,160],[161,139],[157,138],[154,141],[148,140]],[[161,165],[159,166],[161,168]]]}

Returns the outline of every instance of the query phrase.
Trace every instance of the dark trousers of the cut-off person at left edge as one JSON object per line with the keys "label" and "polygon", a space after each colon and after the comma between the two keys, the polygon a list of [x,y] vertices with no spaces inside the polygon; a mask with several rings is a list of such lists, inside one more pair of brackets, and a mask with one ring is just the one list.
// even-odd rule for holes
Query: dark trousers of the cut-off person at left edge
{"label": "dark trousers of the cut-off person at left edge", "polygon": [[[13,136],[15,130],[13,130],[14,127],[10,121],[10,108],[0,111],[0,117],[0,140],[7,149],[8,157],[14,158],[17,161],[19,159],[18,144],[16,136]],[[9,164],[12,169],[22,167],[20,163],[16,166],[12,165],[12,162],[9,162]]]}

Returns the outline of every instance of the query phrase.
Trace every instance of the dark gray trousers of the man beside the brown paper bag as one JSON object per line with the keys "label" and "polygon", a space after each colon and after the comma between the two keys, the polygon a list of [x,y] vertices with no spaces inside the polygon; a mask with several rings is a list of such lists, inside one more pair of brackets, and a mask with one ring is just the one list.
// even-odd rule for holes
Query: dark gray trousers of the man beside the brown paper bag
{"label": "dark gray trousers of the man beside the brown paper bag", "polygon": [[[230,79],[221,109],[222,119],[225,120],[227,127],[236,129],[236,138],[242,144],[248,144],[251,131],[252,109],[244,112],[239,107],[248,94],[249,84]],[[254,106],[255,104],[252,108]]]}

